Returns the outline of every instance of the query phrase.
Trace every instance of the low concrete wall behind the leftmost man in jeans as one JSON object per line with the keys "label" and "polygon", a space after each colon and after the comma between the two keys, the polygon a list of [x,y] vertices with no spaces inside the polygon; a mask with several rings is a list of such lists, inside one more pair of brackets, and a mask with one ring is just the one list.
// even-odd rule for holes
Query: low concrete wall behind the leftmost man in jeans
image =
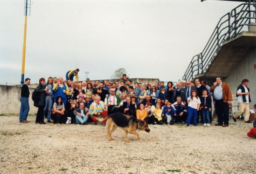
{"label": "low concrete wall behind the leftmost man in jeans", "polygon": [[[20,90],[18,86],[0,85],[0,114],[3,113],[20,113]],[[35,88],[29,88],[30,94]],[[29,95],[29,114],[36,114],[38,108],[33,104],[32,95]]]}

